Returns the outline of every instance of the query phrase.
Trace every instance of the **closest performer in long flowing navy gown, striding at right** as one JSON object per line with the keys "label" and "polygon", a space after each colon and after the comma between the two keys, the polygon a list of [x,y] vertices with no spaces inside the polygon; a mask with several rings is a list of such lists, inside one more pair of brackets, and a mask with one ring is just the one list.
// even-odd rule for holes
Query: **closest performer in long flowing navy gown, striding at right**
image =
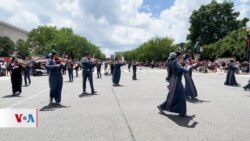
{"label": "closest performer in long flowing navy gown, striding at right", "polygon": [[158,106],[161,113],[163,110],[178,113],[179,116],[186,116],[186,97],[182,84],[183,73],[188,73],[188,69],[184,68],[180,61],[182,56],[180,52],[176,52],[176,59],[171,65],[170,88],[167,100]]}

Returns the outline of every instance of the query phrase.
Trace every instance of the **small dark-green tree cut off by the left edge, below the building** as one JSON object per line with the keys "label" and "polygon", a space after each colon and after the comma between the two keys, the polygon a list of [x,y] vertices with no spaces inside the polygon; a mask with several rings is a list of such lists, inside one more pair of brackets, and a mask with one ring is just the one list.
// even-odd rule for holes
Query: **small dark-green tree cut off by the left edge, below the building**
{"label": "small dark-green tree cut off by the left edge, below the building", "polygon": [[14,42],[6,36],[0,36],[0,56],[11,56],[15,51]]}

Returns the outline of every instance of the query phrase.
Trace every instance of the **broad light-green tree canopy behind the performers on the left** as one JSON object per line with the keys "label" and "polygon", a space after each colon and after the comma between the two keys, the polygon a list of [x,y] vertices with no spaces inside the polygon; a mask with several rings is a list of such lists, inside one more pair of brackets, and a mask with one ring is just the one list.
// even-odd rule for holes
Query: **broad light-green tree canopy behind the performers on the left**
{"label": "broad light-green tree canopy behind the performers on the left", "polygon": [[74,34],[71,28],[39,26],[28,34],[27,42],[35,55],[44,55],[55,49],[60,56],[67,55],[71,59],[80,59],[87,52],[95,58],[105,59],[98,46]]}

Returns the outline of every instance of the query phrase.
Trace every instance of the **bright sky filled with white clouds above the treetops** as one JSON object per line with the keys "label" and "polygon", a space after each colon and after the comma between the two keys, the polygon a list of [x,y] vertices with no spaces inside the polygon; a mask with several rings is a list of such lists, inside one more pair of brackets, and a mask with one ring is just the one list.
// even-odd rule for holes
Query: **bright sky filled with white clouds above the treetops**
{"label": "bright sky filled with white clouds above the treetops", "polygon": [[[149,11],[139,12],[143,0],[0,1],[2,21],[26,30],[38,25],[71,27],[101,46],[105,53],[112,54],[112,51],[135,48],[157,35],[185,41],[192,11],[211,0],[175,0],[158,17]],[[250,0],[234,0],[234,3],[241,18],[250,16]]]}

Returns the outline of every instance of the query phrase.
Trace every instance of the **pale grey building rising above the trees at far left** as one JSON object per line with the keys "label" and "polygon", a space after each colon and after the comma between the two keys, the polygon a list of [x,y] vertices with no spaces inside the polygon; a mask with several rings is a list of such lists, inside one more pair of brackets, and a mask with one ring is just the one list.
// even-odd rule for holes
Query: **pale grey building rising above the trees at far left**
{"label": "pale grey building rising above the trees at far left", "polygon": [[0,21],[0,36],[9,37],[14,43],[19,39],[26,40],[28,32],[14,25]]}

